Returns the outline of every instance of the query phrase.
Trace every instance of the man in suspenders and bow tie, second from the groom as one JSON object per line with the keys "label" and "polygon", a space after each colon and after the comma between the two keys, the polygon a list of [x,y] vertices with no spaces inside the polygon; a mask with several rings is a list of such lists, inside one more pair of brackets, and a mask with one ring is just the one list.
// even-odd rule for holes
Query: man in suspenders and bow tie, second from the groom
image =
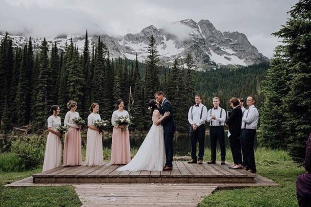
{"label": "man in suspenders and bow tie, second from the groom", "polygon": [[209,122],[209,137],[211,148],[211,159],[207,164],[216,163],[216,142],[218,139],[220,146],[221,164],[225,165],[226,147],[225,147],[225,120],[226,111],[219,106],[219,98],[213,98],[214,107],[207,112],[207,122]]}

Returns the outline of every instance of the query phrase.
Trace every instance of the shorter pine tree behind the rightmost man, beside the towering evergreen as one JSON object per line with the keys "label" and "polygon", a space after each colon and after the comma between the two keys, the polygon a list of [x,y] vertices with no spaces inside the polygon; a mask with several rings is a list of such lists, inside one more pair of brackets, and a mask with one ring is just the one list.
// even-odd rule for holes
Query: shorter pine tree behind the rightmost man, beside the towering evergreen
{"label": "shorter pine tree behind the rightmost man, beside the towering evergreen", "polygon": [[265,102],[260,110],[261,132],[258,141],[261,146],[272,149],[286,148],[286,130],[282,124],[285,121],[282,97],[288,93],[286,68],[286,61],[275,54],[264,81]]}

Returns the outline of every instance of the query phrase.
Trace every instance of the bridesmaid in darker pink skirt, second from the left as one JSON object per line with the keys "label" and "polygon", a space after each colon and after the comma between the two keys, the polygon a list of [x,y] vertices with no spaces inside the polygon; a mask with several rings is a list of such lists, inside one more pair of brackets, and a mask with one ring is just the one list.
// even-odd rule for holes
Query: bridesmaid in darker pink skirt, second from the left
{"label": "bridesmaid in darker pink skirt, second from the left", "polygon": [[67,103],[67,108],[70,109],[65,115],[64,125],[69,127],[65,135],[65,144],[63,151],[63,165],[77,166],[82,163],[81,153],[81,126],[74,123],[75,117],[80,117],[77,110],[77,102],[70,100]]}

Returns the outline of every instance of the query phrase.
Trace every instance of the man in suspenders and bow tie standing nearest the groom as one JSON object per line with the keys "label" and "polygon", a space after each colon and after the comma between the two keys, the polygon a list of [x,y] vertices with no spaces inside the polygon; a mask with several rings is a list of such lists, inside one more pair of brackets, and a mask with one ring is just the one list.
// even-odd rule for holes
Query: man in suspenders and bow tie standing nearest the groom
{"label": "man in suspenders and bow tie standing nearest the groom", "polygon": [[[191,106],[188,112],[190,126],[189,138],[191,141],[191,158],[188,163],[203,164],[205,121],[207,119],[207,108],[202,102],[200,94],[195,95],[195,105]],[[197,142],[199,142],[199,159],[197,159]]]}

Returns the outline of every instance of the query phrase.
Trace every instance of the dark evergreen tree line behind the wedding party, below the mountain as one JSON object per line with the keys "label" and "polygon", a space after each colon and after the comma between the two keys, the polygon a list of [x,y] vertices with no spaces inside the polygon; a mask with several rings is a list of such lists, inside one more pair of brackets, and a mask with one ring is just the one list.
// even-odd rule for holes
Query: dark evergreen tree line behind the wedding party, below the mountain
{"label": "dark evergreen tree line behind the wedding party, below the mountain", "polygon": [[[13,126],[31,124],[34,130],[45,129],[51,105],[58,104],[63,117],[66,103],[78,102],[78,112],[86,119],[92,102],[100,105],[100,115],[110,120],[117,99],[124,100],[132,116],[132,130],[149,129],[151,119],[147,102],[158,90],[165,92],[174,107],[178,132],[187,132],[187,113],[194,104],[194,95],[203,94],[207,107],[212,96],[221,98],[222,107],[229,109],[232,96],[260,96],[261,80],[267,64],[247,68],[225,68],[198,72],[191,54],[175,59],[172,66],[159,65],[155,38],[149,38],[145,62],[137,59],[110,58],[108,47],[98,36],[90,43],[85,33],[80,54],[72,39],[64,50],[57,43],[43,39],[34,49],[32,39],[23,48],[13,47],[8,33],[0,42],[0,120],[1,131]],[[259,101],[260,102],[260,101]]]}

